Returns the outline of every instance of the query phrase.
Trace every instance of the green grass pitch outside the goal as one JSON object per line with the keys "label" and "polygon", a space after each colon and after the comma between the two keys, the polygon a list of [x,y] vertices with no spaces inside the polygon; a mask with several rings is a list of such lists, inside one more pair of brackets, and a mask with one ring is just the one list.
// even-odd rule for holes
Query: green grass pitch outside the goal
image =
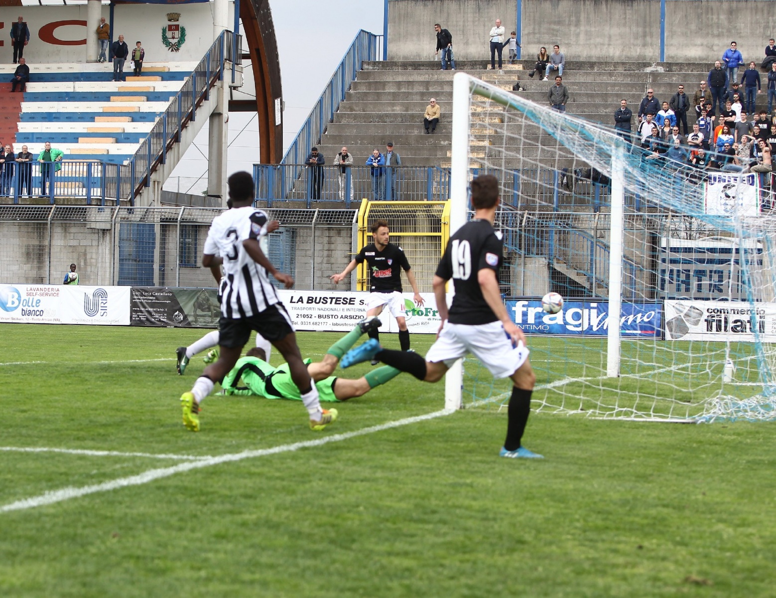
{"label": "green grass pitch outside the goal", "polygon": [[[403,374],[324,433],[298,402],[217,396],[189,433],[178,397],[202,363],[178,377],[174,351],[202,333],[0,325],[0,447],[122,453],[0,450],[0,509],[184,462],[154,455],[442,409],[442,384]],[[299,335],[313,357],[336,338]],[[539,412],[525,444],[543,461],[497,457],[505,426],[494,406],[467,409],[0,512],[0,596],[774,596],[774,424]]]}

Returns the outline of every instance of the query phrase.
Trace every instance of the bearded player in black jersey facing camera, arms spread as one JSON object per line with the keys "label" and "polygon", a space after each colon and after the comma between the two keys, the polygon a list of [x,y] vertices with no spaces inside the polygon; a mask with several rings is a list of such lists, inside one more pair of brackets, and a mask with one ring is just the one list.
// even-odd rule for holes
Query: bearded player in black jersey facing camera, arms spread
{"label": "bearded player in black jersey facing camera, arms spread", "polygon": [[[399,345],[402,351],[410,348],[410,331],[407,330],[407,321],[404,318],[404,298],[401,296],[401,269],[407,273],[407,280],[410,281],[412,290],[415,294],[414,301],[418,306],[423,304],[423,297],[417,290],[415,274],[410,269],[410,262],[407,262],[407,256],[399,245],[393,245],[388,242],[390,229],[388,223],[384,220],[376,221],[372,224],[373,243],[364,245],[362,250],[355,256],[348,266],[339,274],[331,276],[335,284],[351,273],[355,266],[364,262],[369,265],[372,271],[372,287],[369,289],[372,293],[366,300],[366,317],[380,315],[383,308],[387,305],[391,315],[396,318],[399,325]],[[369,338],[379,340],[377,329],[369,330]]]}

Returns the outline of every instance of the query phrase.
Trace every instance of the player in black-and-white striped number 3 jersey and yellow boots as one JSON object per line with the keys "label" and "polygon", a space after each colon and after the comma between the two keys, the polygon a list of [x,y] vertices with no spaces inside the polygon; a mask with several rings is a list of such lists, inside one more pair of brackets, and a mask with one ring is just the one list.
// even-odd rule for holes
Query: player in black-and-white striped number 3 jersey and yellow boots
{"label": "player in black-and-white striped number 3 jersey and yellow boots", "polygon": [[190,392],[183,393],[183,424],[199,432],[199,403],[213,391],[240,358],[242,348],[255,330],[275,346],[289,364],[289,374],[300,388],[301,398],[310,415],[310,428],[324,429],[337,419],[337,410],[320,408],[318,391],[307,373],[299,346],[296,345],[291,318],[281,303],[268,275],[293,287],[293,277],[272,266],[262,252],[259,239],[268,233],[268,218],[253,206],[253,177],[235,172],[229,177],[229,196],[234,207],[213,219],[203,253],[203,266],[223,266],[227,282],[221,299],[218,322],[220,355],[205,368]]}

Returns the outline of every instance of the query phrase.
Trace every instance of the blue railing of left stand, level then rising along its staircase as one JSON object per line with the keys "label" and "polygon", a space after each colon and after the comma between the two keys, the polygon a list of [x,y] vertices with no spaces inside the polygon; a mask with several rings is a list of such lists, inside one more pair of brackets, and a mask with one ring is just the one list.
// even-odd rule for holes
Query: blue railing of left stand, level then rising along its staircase
{"label": "blue railing of left stand, level then rising along its staircase", "polygon": [[[186,78],[182,89],[171,99],[167,110],[157,117],[154,127],[140,143],[135,154],[125,164],[101,161],[14,162],[0,171],[0,196],[12,197],[19,203],[24,196],[46,197],[56,203],[57,197],[85,200],[122,200],[134,205],[144,186],[149,186],[151,174],[165,164],[168,148],[181,140],[181,132],[196,118],[196,109],[210,96],[210,89],[223,80],[226,57],[241,60],[240,36],[224,30]],[[238,63],[239,64],[239,63]],[[52,183],[53,181],[53,183]]]}

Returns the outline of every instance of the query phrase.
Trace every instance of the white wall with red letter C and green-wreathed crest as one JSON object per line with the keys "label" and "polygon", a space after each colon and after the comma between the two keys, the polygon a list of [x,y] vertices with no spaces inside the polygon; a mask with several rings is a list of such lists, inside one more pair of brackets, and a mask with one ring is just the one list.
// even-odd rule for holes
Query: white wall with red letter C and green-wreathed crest
{"label": "white wall with red letter C and green-wreathed crest", "polygon": [[[230,10],[231,7],[230,4]],[[19,16],[23,16],[29,27],[29,45],[24,49],[24,57],[33,74],[35,63],[83,62],[86,37],[96,36],[95,29],[99,25],[86,23],[86,12],[86,5],[0,7],[0,31],[3,40],[0,62],[11,62],[13,47],[10,30]],[[168,23],[168,12],[179,12],[181,17],[178,23],[186,30],[185,42],[178,52],[169,51],[161,40],[161,30]],[[116,5],[113,15],[113,40],[117,40],[119,34],[122,34],[129,47],[134,47],[135,42],[140,40],[146,50],[147,62],[199,61],[213,43],[213,15],[209,2],[185,5]],[[109,6],[102,6],[102,16],[106,22],[110,21]],[[73,21],[78,24],[65,24]],[[108,66],[106,70],[107,68]]]}

